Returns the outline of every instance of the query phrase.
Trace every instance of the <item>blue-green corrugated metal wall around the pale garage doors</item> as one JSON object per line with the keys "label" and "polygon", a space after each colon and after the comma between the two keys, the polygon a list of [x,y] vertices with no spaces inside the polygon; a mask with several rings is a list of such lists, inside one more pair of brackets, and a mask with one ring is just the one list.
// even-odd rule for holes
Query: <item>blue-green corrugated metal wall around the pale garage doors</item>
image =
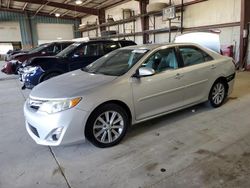
{"label": "blue-green corrugated metal wall around the pale garage doors", "polygon": [[77,31],[80,20],[59,19],[46,16],[32,16],[16,12],[0,11],[0,25],[1,21],[18,21],[20,24],[22,45],[23,48],[30,48],[37,45],[37,23],[56,23],[56,24],[73,24],[75,38],[81,37],[81,33]]}

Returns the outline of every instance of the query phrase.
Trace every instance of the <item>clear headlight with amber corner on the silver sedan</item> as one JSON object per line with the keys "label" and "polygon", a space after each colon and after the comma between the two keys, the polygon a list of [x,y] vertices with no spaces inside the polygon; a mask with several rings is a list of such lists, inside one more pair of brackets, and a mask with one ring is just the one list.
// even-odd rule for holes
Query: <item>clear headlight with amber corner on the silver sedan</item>
{"label": "clear headlight with amber corner on the silver sedan", "polygon": [[48,101],[40,106],[39,111],[47,112],[48,114],[61,112],[75,107],[81,101],[81,99],[81,97],[78,97],[74,99]]}

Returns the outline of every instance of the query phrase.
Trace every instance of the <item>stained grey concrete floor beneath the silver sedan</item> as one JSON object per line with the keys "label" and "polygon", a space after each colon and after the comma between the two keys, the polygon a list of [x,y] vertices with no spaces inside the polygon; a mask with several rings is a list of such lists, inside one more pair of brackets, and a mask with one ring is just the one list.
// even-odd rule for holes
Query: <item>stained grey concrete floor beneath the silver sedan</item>
{"label": "stained grey concrete floor beneath the silver sedan", "polygon": [[29,91],[1,74],[0,187],[250,187],[249,80],[250,73],[238,73],[222,107],[201,104],[136,125],[113,148],[51,148],[26,133]]}

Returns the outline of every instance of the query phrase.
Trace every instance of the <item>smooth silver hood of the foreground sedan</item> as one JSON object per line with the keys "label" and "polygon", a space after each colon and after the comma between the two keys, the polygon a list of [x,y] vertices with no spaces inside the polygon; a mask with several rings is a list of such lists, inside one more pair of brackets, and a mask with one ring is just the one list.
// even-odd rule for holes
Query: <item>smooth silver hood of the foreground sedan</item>
{"label": "smooth silver hood of the foreground sedan", "polygon": [[116,76],[72,71],[49,79],[33,88],[30,97],[39,99],[70,98],[83,96],[90,89],[113,81]]}

